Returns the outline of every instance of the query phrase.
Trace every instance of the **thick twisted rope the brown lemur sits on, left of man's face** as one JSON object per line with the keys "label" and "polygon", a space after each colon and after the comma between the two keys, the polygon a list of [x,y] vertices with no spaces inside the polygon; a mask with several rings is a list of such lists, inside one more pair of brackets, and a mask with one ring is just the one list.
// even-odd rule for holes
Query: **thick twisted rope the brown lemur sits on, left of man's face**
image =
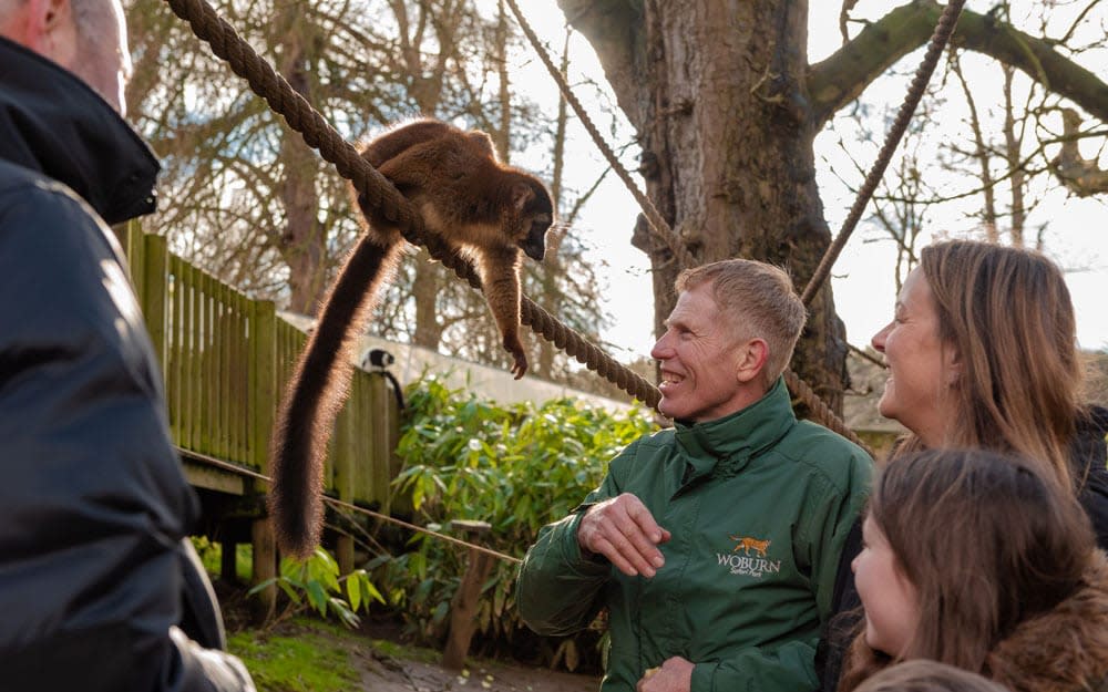
{"label": "thick twisted rope the brown lemur sits on, left of man's face", "polygon": [[[480,288],[481,280],[470,264],[452,252],[440,238],[425,234],[422,218],[403,195],[369,165],[353,145],[343,140],[211,4],[205,0],[166,1],[177,17],[191,24],[193,33],[207,42],[216,55],[227,61],[235,74],[244,78],[270,109],[285,117],[289,127],[298,132],[308,146],[318,149],[326,161],[335,164],[342,177],[353,182],[372,207],[381,209],[386,217],[396,221],[409,242],[427,247],[431,257],[452,269],[470,286]],[[582,334],[558,322],[526,296],[522,299],[521,321],[589,370],[648,406],[657,409],[661,399],[657,388],[613,360]]]}

